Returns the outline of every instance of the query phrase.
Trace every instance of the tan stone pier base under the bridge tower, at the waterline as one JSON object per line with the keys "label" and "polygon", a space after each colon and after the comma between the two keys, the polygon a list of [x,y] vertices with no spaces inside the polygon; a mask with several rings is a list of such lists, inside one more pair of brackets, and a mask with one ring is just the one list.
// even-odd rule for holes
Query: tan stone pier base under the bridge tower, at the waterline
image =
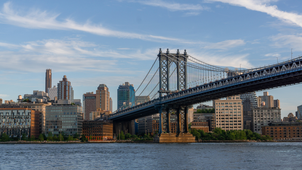
{"label": "tan stone pier base under the bridge tower, at the waterline", "polygon": [[195,137],[190,133],[181,134],[159,134],[153,137],[153,142],[156,143],[193,143]]}

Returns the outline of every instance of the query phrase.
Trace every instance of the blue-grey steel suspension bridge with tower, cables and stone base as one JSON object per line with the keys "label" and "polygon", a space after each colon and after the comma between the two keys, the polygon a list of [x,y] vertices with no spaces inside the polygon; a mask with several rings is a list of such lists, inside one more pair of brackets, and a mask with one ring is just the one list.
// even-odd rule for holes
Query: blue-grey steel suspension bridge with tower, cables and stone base
{"label": "blue-grey steel suspension bridge with tower, cables and stone base", "polygon": [[[158,61],[157,61],[158,59]],[[159,50],[156,61],[135,92],[149,101],[127,103],[109,116],[116,123],[159,113],[159,133],[154,142],[194,142],[188,132],[192,105],[228,96],[294,85],[302,82],[301,57],[254,68],[229,69],[198,60],[186,50],[171,54]],[[171,133],[170,116],[177,115]],[[118,133],[118,132],[117,132]]]}

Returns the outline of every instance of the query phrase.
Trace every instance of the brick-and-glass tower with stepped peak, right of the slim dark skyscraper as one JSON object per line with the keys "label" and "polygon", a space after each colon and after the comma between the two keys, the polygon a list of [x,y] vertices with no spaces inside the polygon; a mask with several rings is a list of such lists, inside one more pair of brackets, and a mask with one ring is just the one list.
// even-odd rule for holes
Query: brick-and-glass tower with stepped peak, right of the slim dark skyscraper
{"label": "brick-and-glass tower with stepped peak, right of the slim dark skyscraper", "polygon": [[70,100],[71,103],[73,101],[73,88],[71,86],[70,81],[64,75],[63,80],[58,83],[57,86],[57,97],[58,100]]}

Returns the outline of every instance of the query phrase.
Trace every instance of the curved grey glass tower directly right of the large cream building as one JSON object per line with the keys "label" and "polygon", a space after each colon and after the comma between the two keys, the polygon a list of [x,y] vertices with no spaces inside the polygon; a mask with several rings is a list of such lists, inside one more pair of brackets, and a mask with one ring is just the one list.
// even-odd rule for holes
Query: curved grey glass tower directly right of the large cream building
{"label": "curved grey glass tower directly right of the large cream building", "polygon": [[252,109],[260,106],[261,99],[256,96],[256,93],[242,94],[240,99],[242,100],[243,129],[250,130]]}

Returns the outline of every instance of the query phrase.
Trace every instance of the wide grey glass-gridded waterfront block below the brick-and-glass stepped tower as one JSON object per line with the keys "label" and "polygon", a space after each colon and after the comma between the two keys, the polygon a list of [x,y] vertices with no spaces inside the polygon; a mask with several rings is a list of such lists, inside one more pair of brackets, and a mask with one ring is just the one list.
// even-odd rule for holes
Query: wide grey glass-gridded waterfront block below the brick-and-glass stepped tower
{"label": "wide grey glass-gridded waterfront block below the brick-and-glass stepped tower", "polygon": [[78,133],[82,135],[83,110],[81,106],[71,104],[70,100],[58,100],[53,105],[46,106],[45,131],[46,136],[49,132],[59,136],[64,132],[66,136],[74,136]]}

